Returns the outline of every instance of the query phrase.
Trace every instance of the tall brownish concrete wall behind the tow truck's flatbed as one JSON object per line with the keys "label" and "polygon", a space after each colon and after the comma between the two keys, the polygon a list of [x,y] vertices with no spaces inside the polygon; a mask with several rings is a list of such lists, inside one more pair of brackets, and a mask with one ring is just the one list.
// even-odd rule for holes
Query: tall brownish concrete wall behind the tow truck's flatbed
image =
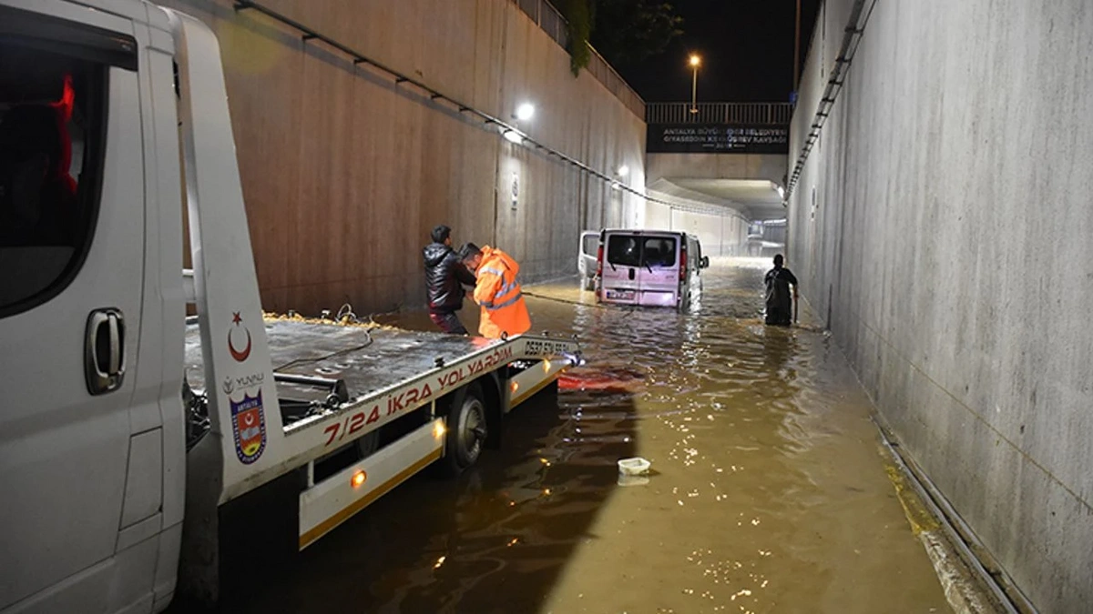
{"label": "tall brownish concrete wall behind the tow truck's flatbed", "polygon": [[[533,281],[574,270],[578,232],[635,224],[611,190],[412,86],[231,0],[166,0],[216,32],[262,302],[314,314],[424,303],[421,248],[438,223],[491,244]],[[266,0],[266,5],[453,98],[644,186],[645,123],[508,0]],[[514,174],[517,206],[512,206]]]}

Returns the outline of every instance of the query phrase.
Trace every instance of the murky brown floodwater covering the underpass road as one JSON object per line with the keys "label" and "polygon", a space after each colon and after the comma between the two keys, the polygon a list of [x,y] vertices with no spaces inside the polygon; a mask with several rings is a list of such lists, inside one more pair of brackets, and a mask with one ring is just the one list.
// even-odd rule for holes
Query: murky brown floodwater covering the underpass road
{"label": "murky brown floodwater covering the underpass road", "polygon": [[[501,450],[400,486],[233,611],[949,611],[842,354],[803,309],[762,324],[765,267],[715,262],[684,315],[526,288],[536,330],[579,334],[574,380],[622,385],[517,409]],[[620,483],[632,456],[653,471]]]}

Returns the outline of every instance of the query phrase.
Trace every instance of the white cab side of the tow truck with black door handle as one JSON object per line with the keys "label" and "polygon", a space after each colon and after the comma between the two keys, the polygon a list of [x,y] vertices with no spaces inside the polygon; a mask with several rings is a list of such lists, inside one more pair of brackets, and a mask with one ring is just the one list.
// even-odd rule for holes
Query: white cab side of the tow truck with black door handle
{"label": "white cab side of the tow truck with black door handle", "polygon": [[[131,590],[102,580],[119,572],[121,529],[158,510],[162,487],[143,467],[162,463],[158,432],[137,452],[130,441],[130,409],[156,401],[133,385],[145,241],[137,26],[56,0],[4,4],[0,610],[30,599],[98,612]],[[129,470],[149,474],[145,491],[127,492]],[[80,601],[56,600],[66,579],[64,599]]]}

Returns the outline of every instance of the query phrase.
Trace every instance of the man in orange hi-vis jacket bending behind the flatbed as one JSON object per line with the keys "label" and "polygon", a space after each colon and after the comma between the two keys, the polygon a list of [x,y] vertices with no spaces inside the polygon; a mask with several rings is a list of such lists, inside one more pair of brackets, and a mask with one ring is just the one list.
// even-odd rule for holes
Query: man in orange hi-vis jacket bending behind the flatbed
{"label": "man in orange hi-vis jacket bending behind the flatbed", "polygon": [[485,246],[481,249],[469,243],[459,250],[463,264],[478,278],[474,284],[474,303],[482,306],[479,334],[487,339],[512,336],[531,330],[528,306],[516,281],[520,265],[500,249]]}

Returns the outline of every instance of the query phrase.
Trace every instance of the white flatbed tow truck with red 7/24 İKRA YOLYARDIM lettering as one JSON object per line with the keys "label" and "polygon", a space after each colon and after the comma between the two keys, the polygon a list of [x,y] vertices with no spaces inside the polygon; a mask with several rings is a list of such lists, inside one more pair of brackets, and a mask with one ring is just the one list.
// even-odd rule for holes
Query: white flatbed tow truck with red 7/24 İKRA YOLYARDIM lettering
{"label": "white flatbed tow truck with red 7/24 \u0130KRA YOLYARDIM lettering", "polygon": [[0,612],[215,604],[579,361],[346,319],[262,311],[208,27],[0,0]]}

